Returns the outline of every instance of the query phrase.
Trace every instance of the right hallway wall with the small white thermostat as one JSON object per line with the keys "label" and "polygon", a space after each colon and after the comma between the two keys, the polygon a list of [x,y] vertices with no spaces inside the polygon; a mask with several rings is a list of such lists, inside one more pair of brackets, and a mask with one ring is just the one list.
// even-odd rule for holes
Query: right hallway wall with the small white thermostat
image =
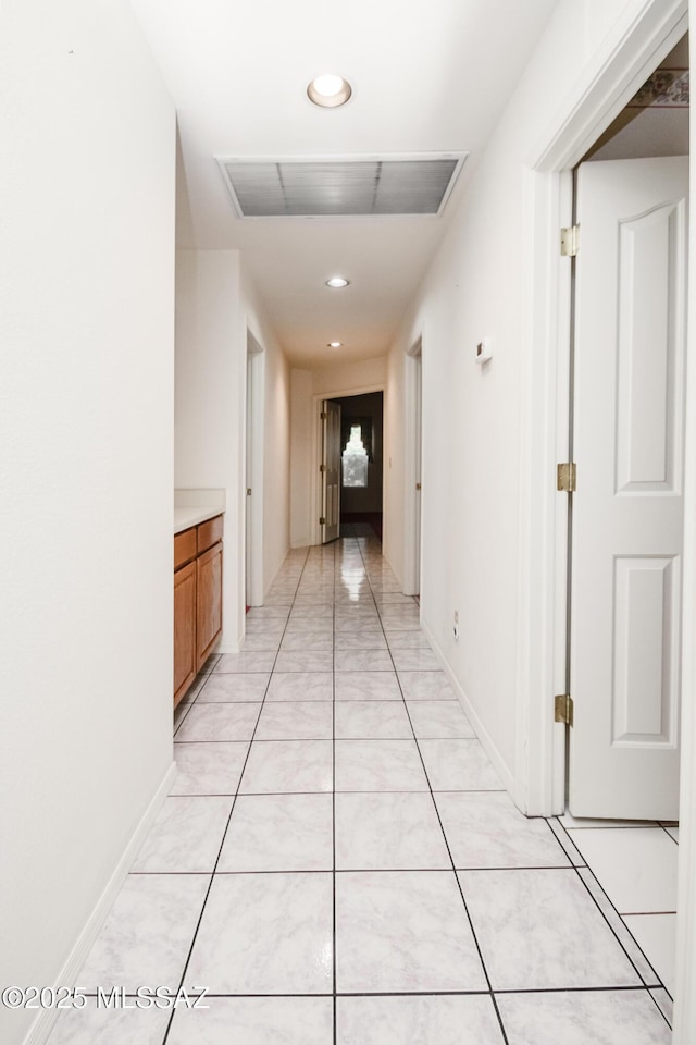
{"label": "right hallway wall with the small white thermostat", "polygon": [[[525,164],[563,112],[564,96],[589,81],[597,54],[618,44],[641,7],[561,0],[484,155],[468,164],[460,210],[389,359],[385,553],[402,576],[403,354],[422,334],[423,623],[509,786],[519,769],[520,605],[529,604],[519,548],[521,407],[530,388],[526,357],[522,365],[531,307]],[[493,337],[495,355],[482,368],[474,353],[483,336]]]}

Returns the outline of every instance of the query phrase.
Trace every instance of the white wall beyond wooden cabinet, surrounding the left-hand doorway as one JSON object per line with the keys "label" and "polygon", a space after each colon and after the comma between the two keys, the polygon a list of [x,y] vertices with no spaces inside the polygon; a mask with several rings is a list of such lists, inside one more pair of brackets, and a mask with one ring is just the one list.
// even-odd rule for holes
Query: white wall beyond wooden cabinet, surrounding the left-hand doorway
{"label": "white wall beyond wooden cabinet, surrounding the left-hand doorway", "polygon": [[263,590],[289,548],[289,369],[237,250],[176,255],[175,481],[226,491],[223,635],[236,651],[245,622],[247,331],[263,349]]}

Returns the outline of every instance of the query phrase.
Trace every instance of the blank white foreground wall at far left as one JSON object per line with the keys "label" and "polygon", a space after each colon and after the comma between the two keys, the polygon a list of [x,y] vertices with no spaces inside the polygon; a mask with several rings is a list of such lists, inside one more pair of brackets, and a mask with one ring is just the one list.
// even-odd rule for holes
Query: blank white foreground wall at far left
{"label": "blank white foreground wall at far left", "polygon": [[4,0],[0,49],[0,982],[42,985],[172,763],[175,128],[126,0]]}

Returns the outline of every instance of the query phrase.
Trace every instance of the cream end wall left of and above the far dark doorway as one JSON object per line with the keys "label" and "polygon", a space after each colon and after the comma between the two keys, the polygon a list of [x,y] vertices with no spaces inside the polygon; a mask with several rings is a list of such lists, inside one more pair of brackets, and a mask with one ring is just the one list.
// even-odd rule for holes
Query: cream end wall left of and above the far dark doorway
{"label": "cream end wall left of and above the far dark doorway", "polygon": [[[321,370],[291,371],[290,410],[290,545],[306,548],[313,540],[312,508],[315,465],[315,396],[350,395],[385,388],[386,356],[361,362],[336,362]],[[385,404],[386,405],[386,404]]]}

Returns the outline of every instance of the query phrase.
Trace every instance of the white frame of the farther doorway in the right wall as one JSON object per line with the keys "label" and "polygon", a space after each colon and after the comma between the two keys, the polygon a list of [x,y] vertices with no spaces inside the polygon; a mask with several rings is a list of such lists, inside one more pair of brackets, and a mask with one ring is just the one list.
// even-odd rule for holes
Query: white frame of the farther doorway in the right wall
{"label": "white frame of the farther doorway in the right wall", "polygon": [[[406,349],[403,385],[403,594],[420,595],[422,563],[422,482],[423,470],[423,339],[419,335]],[[419,467],[420,466],[420,467]],[[420,522],[419,522],[420,514]]]}

